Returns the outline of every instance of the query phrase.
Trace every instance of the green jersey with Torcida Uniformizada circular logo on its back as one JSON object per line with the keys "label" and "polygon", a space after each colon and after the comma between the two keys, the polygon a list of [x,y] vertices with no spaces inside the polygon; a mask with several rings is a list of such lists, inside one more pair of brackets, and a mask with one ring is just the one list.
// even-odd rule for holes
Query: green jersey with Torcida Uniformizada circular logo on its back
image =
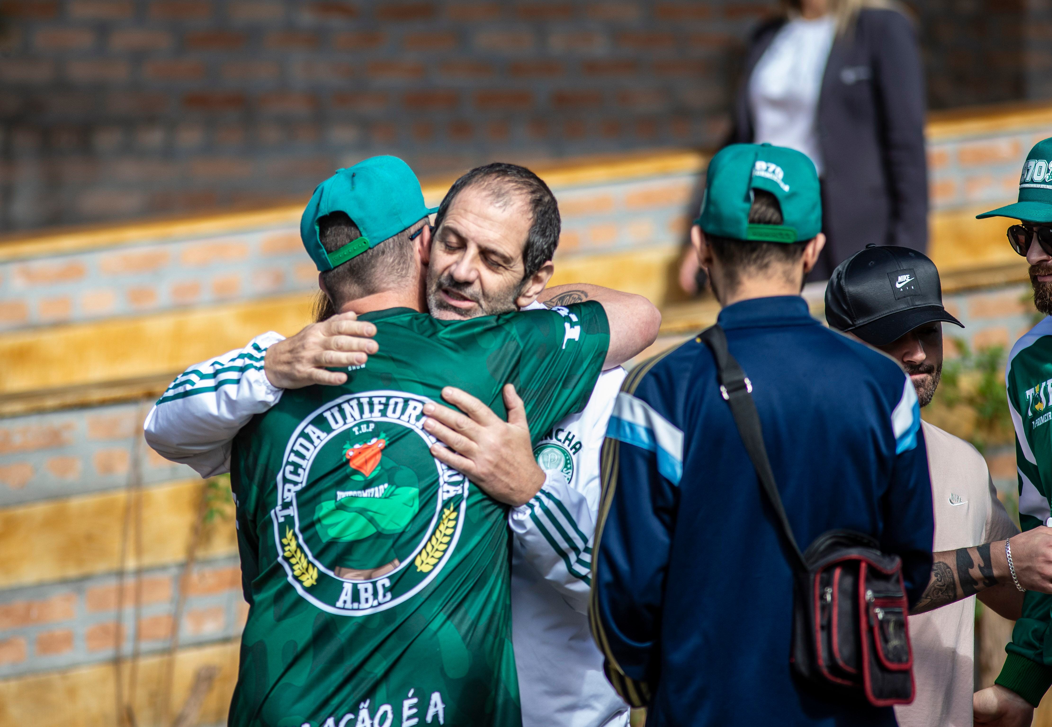
{"label": "green jersey with Torcida Uniformizada circular logo on its back", "polygon": [[285,391],[234,443],[250,608],[229,722],[518,727],[507,507],[431,456],[422,411],[457,386],[505,416],[511,383],[540,441],[587,403],[606,315],[361,318],[367,364]]}

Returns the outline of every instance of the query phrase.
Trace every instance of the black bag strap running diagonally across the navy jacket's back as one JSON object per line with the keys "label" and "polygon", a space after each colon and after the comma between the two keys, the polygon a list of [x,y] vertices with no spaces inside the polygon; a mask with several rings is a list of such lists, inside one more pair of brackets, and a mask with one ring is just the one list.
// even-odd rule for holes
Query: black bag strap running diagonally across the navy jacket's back
{"label": "black bag strap running diagonally across the navy jacket's back", "polygon": [[792,526],[789,525],[789,518],[786,517],[785,507],[782,506],[782,497],[778,488],[774,484],[774,473],[771,471],[771,463],[767,459],[767,448],[764,446],[764,431],[760,424],[760,413],[756,411],[756,404],[752,400],[752,382],[745,376],[742,366],[734,360],[727,349],[727,335],[719,325],[713,325],[702,331],[699,337],[716,361],[717,376],[720,378],[720,392],[730,405],[731,416],[737,425],[737,432],[742,436],[745,450],[749,452],[752,466],[756,469],[760,478],[761,489],[767,497],[767,502],[774,510],[774,517],[782,527],[782,534],[789,546],[790,560],[795,570],[807,571],[807,564],[804,554],[796,545],[796,539],[792,534]]}

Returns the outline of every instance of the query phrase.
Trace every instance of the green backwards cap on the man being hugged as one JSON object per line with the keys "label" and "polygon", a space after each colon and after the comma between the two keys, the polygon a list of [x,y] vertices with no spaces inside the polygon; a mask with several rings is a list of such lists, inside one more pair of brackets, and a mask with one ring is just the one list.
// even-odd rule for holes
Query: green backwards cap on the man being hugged
{"label": "green backwards cap on the man being hugged", "polygon": [[[347,262],[384,240],[412,226],[438,207],[424,204],[420,180],[398,157],[370,157],[336,174],[315,187],[300,218],[300,238],[322,272]],[[353,220],[362,236],[333,253],[318,239],[318,219],[341,211]]]}

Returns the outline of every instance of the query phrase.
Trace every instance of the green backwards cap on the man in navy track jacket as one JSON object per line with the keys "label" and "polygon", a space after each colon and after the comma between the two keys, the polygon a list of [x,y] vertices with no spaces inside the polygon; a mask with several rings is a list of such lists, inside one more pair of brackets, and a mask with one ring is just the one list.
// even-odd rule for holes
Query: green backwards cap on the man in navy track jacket
{"label": "green backwards cap on the man in navy track jacket", "polygon": [[[749,224],[752,190],[774,195],[780,225]],[[818,175],[807,155],[770,144],[731,144],[709,162],[701,216],[706,235],[734,240],[801,242],[822,231]]]}

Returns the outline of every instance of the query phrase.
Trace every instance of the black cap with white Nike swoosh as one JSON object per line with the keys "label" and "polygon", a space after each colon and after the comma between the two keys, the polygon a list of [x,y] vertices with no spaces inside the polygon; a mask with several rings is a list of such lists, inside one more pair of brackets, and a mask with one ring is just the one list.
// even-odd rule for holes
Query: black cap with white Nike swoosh
{"label": "black cap with white Nike swoosh", "polygon": [[933,321],[965,327],[943,307],[935,263],[893,245],[866,245],[836,266],[826,286],[826,321],[874,346]]}

